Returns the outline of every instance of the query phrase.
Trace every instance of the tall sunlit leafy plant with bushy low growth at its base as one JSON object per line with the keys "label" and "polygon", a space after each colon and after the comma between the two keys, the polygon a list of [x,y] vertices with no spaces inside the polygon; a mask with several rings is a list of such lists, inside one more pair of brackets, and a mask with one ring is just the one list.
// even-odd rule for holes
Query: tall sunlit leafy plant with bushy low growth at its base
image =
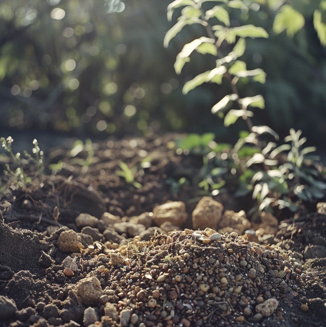
{"label": "tall sunlit leafy plant with bushy low growth at its base", "polygon": [[[213,2],[214,6],[211,4]],[[235,195],[246,196],[251,193],[257,202],[257,206],[249,212],[252,216],[262,210],[270,211],[273,207],[286,207],[296,212],[302,202],[322,199],[326,183],[316,162],[318,158],[311,155],[315,148],[303,148],[306,138],[300,138],[301,131],[293,129],[285,138],[285,142],[290,144],[277,146],[274,141],[278,141],[279,137],[275,131],[269,126],[256,126],[252,120],[253,109],[265,107],[263,97],[260,94],[247,97],[241,95],[239,85],[248,81],[263,84],[266,80],[262,69],[248,70],[240,57],[246,51],[247,38],[267,38],[268,33],[252,24],[232,26],[230,19],[230,13],[237,10],[248,14],[255,8],[254,1],[175,0],[168,6],[169,20],[178,8],[182,8],[181,14],[165,35],[165,47],[187,25],[204,26],[206,35],[184,45],[174,63],[176,73],[181,73],[193,52],[216,58],[215,67],[186,82],[183,93],[187,94],[204,83],[220,86],[226,81],[229,94],[223,96],[211,108],[211,112],[223,119],[225,127],[241,118],[248,129],[240,132],[240,138],[234,146],[215,143],[214,135],[210,133],[203,136],[192,134],[179,142],[178,146],[183,153],[203,156],[199,186],[205,193],[217,195],[229,191],[230,181],[236,180],[233,183],[236,188],[231,185]],[[301,25],[294,26],[293,21],[284,23],[281,17],[289,12],[299,15],[292,7],[284,5],[275,16],[275,33],[286,30],[293,36],[302,28]],[[273,141],[266,141],[268,138]]]}

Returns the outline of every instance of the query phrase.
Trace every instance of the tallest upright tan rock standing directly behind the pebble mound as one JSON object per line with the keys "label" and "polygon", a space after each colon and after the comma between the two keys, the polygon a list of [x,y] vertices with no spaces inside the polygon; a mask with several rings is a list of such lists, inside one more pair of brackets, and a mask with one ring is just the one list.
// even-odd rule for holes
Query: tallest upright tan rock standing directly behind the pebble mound
{"label": "tallest upright tan rock standing directly behind the pebble mound", "polygon": [[223,205],[209,196],[204,196],[192,212],[194,229],[217,228],[222,218]]}

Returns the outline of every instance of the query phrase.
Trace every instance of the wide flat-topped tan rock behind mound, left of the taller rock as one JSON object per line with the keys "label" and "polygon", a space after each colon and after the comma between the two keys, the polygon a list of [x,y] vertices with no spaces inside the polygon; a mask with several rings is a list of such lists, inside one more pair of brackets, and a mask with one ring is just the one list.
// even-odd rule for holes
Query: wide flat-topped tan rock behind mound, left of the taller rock
{"label": "wide flat-topped tan rock behind mound, left of the taller rock", "polygon": [[164,222],[171,222],[181,226],[187,220],[186,205],[182,201],[168,202],[153,209],[152,219],[157,226]]}

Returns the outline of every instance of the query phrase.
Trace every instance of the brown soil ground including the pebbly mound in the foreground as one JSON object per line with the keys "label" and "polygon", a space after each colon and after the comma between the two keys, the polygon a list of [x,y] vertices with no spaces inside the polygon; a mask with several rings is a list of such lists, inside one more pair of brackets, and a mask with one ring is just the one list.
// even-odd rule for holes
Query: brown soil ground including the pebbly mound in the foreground
{"label": "brown soil ground including the pebbly mound in the foreground", "polygon": [[[282,218],[269,244],[235,233],[206,243],[212,231],[191,230],[202,160],[177,155],[176,137],[108,139],[93,144],[89,166],[86,151],[69,159],[69,149],[54,149],[46,164],[62,160],[57,175],[34,174],[26,189],[6,189],[0,327],[326,326],[324,205]],[[120,162],[135,168],[134,181],[117,173]],[[234,211],[250,206],[230,194],[214,199]],[[142,220],[168,201],[186,204],[179,231]],[[120,223],[108,226],[104,212]],[[81,213],[98,218],[96,225],[77,225]],[[136,236],[122,228],[135,217]],[[69,230],[80,251],[58,244]],[[277,308],[260,313],[257,305],[270,298]]]}

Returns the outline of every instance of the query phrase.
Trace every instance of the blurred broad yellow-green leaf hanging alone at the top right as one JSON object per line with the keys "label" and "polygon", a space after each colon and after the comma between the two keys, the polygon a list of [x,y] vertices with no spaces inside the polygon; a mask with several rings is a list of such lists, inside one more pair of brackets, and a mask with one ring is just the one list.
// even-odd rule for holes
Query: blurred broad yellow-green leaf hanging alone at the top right
{"label": "blurred broad yellow-green leaf hanging alone at the top right", "polygon": [[286,30],[287,35],[293,37],[304,25],[305,17],[292,6],[285,4],[275,16],[273,31],[280,34]]}

